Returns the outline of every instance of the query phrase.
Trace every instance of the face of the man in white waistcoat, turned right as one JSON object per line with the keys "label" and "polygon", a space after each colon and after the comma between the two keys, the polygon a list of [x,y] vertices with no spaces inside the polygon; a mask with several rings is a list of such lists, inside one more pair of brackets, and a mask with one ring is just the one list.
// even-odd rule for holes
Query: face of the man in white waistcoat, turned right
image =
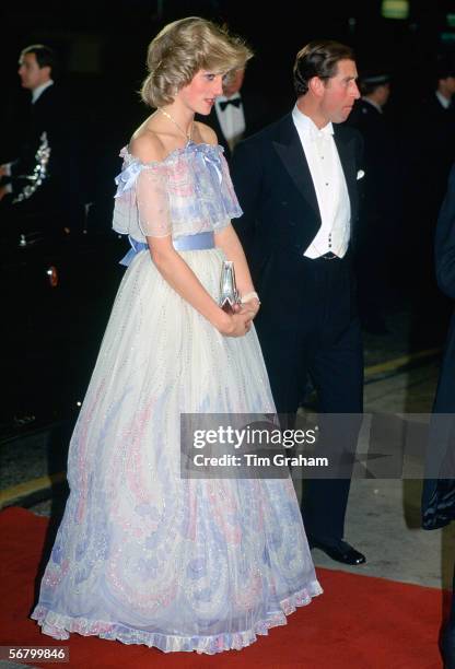
{"label": "face of the man in white waistcoat, turned right", "polygon": [[320,113],[327,122],[342,124],[348,118],[355,99],[360,97],[357,78],[354,61],[345,59],[338,62],[336,74],[324,82]]}

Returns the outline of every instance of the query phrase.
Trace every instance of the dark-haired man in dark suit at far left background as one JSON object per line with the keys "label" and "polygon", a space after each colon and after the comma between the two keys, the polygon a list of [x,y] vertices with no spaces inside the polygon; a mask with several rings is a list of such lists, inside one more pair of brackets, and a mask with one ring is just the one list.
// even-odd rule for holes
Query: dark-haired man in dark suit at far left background
{"label": "dark-haired man in dark suit at far left background", "polygon": [[[16,154],[0,165],[2,218],[19,233],[74,231],[83,222],[81,137],[54,82],[56,56],[37,44],[21,51],[19,75],[31,92],[28,120],[18,131]],[[3,224],[3,230],[5,225]]]}

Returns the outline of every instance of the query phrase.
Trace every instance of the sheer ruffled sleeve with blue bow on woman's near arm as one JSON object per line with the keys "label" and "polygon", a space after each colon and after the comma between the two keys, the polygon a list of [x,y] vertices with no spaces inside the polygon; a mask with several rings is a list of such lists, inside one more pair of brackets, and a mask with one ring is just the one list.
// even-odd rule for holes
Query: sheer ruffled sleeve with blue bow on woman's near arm
{"label": "sheer ruffled sleeve with blue bow on woman's near arm", "polygon": [[165,237],[171,234],[171,212],[166,173],[163,166],[128,161],[124,149],[124,167],[116,178],[113,227],[121,235],[138,242],[145,237]]}

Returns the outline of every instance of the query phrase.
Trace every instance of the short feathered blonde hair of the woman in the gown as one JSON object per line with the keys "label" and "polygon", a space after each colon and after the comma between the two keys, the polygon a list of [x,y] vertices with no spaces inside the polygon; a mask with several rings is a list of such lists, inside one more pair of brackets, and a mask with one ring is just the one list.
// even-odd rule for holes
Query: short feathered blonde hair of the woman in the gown
{"label": "short feathered blonde hair of the woman in the gown", "polygon": [[232,75],[253,52],[240,38],[211,21],[189,16],[166,25],[152,39],[147,55],[149,74],[141,97],[151,107],[174,102],[199,70]]}

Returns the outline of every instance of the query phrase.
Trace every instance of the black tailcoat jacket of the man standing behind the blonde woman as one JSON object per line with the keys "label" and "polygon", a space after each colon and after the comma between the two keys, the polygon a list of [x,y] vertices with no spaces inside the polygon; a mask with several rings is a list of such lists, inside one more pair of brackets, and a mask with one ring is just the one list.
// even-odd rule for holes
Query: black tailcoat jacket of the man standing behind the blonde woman
{"label": "black tailcoat jacket of the man standing behind the blonde woman", "polygon": [[[357,177],[362,138],[357,130],[341,125],[334,125],[334,138],[351,203],[352,242],[359,210]],[[299,291],[292,275],[298,274],[322,219],[291,114],[237,145],[232,177],[244,212],[234,226],[262,303],[280,298],[283,274],[290,277],[284,290]]]}

